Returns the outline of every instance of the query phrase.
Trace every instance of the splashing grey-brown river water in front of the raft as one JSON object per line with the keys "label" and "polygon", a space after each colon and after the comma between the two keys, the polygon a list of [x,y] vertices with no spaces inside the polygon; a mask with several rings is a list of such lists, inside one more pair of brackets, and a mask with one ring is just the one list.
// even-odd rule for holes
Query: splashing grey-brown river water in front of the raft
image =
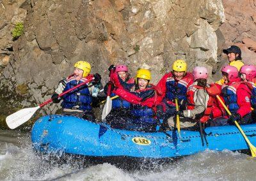
{"label": "splashing grey-brown river water in front of the raft", "polygon": [[122,170],[108,163],[77,167],[42,160],[29,133],[0,130],[0,180],[256,180],[256,159],[239,152],[205,151],[156,170]]}

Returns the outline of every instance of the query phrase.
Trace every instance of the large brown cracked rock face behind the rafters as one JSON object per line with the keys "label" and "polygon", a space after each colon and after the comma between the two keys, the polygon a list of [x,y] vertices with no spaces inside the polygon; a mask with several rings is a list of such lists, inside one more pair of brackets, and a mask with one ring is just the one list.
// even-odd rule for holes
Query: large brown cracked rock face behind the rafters
{"label": "large brown cracked rock face behind the rafters", "polygon": [[[221,0],[5,0],[0,11],[2,79],[26,85],[29,102],[50,98],[76,61],[90,62],[102,82],[110,64],[125,63],[132,75],[147,66],[156,83],[176,59],[215,71],[223,43]],[[24,22],[24,34],[13,42],[14,22]]]}

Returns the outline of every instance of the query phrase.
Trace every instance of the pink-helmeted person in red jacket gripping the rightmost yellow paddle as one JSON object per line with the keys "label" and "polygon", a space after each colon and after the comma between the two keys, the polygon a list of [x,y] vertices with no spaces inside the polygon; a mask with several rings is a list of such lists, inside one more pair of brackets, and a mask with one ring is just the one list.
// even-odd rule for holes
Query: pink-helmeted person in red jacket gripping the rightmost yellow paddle
{"label": "pink-helmeted person in red jacket gripping the rightmost yellow paddle", "polygon": [[253,122],[251,115],[250,94],[251,91],[246,83],[239,78],[237,68],[234,66],[224,66],[221,73],[225,85],[222,86],[221,93],[225,99],[225,105],[232,113],[228,119],[216,121],[215,126],[234,124],[250,124]]}

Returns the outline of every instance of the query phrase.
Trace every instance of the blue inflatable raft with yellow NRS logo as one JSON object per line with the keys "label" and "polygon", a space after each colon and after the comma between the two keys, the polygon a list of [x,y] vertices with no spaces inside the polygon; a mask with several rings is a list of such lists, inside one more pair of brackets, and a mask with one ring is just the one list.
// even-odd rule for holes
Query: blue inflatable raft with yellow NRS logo
{"label": "blue inflatable raft with yellow NRS logo", "polygon": [[[241,126],[256,145],[256,124]],[[45,154],[72,154],[94,158],[129,157],[170,159],[209,150],[248,150],[236,126],[207,127],[199,131],[143,133],[112,129],[72,116],[51,115],[36,120],[31,133],[33,148]],[[206,142],[207,141],[207,142]],[[208,144],[206,144],[208,143]]]}

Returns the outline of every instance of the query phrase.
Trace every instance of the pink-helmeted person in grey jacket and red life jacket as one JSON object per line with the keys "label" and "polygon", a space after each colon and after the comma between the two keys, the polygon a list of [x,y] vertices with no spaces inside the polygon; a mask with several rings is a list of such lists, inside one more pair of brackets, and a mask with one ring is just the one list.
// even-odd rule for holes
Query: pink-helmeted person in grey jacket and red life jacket
{"label": "pink-helmeted person in grey jacket and red life jacket", "polygon": [[[221,87],[215,83],[209,85],[207,83],[208,75],[208,70],[205,67],[196,66],[193,69],[193,83],[186,92],[188,98],[187,110],[175,112],[181,117],[181,128],[193,127],[196,122],[205,124],[209,119],[216,119],[225,114],[225,109],[218,104],[216,97],[213,96],[215,93],[212,92],[213,87],[219,89],[217,92],[221,92]],[[170,126],[175,125],[174,118],[168,120]]]}

